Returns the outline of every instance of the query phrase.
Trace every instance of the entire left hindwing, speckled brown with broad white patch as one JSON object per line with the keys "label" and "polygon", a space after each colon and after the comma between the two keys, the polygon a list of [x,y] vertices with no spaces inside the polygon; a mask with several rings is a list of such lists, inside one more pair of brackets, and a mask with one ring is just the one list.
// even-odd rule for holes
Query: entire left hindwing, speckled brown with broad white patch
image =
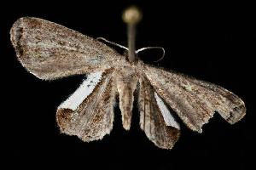
{"label": "entire left hindwing, speckled brown with broad white patch", "polygon": [[111,70],[91,73],[58,107],[56,120],[61,133],[77,135],[86,142],[110,133],[117,94],[114,83]]}

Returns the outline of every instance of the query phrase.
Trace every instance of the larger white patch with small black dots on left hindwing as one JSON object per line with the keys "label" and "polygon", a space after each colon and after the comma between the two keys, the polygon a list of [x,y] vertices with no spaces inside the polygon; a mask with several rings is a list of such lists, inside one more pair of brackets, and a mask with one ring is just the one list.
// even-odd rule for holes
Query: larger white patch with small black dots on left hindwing
{"label": "larger white patch with small black dots on left hindwing", "polygon": [[90,73],[86,80],[82,82],[80,87],[66,100],[59,108],[71,109],[75,111],[78,106],[91,94],[96,84],[100,82],[102,78],[102,72]]}

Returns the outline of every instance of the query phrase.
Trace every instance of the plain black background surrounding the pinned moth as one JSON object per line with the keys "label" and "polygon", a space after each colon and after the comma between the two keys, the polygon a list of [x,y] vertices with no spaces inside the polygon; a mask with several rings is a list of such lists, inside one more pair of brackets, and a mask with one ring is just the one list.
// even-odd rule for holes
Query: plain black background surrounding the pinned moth
{"label": "plain black background surrounding the pinned moth", "polygon": [[[44,82],[26,72],[15,57],[9,29],[20,17],[34,16],[80,31],[90,37],[126,44],[120,14],[130,4],[143,10],[137,27],[137,48],[162,46],[166,57],[145,53],[146,63],[159,65],[214,82],[239,95],[247,116],[231,126],[218,114],[194,133],[182,125],[172,150],[154,146],[139,128],[137,108],[132,126],[121,126],[115,109],[113,131],[101,141],[83,143],[59,133],[58,105],[79,86],[83,77]],[[161,1],[6,2],[1,5],[0,43],[2,88],[1,118],[4,154],[9,166],[83,169],[246,169],[253,154],[255,85],[253,83],[256,26],[252,4],[167,3]],[[254,110],[255,111],[255,110]],[[3,153],[3,152],[2,152]],[[8,162],[8,161],[6,161]]]}

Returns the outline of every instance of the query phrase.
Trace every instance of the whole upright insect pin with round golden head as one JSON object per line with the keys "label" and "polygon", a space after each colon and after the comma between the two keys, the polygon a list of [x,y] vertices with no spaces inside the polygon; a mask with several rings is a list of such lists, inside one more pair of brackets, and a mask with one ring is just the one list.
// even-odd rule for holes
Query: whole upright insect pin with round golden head
{"label": "whole upright insect pin with round golden head", "polygon": [[127,24],[128,37],[128,59],[130,62],[136,60],[135,36],[137,23],[142,20],[143,14],[137,7],[126,8],[122,18]]}

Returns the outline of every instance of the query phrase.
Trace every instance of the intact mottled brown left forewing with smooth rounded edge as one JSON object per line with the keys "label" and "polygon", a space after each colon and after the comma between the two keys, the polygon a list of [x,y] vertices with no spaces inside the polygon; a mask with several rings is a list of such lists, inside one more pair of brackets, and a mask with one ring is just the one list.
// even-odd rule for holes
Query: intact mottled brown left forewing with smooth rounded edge
{"label": "intact mottled brown left forewing with smooth rounded edge", "polygon": [[38,18],[20,18],[10,35],[21,64],[41,79],[103,71],[125,59],[102,42]]}

